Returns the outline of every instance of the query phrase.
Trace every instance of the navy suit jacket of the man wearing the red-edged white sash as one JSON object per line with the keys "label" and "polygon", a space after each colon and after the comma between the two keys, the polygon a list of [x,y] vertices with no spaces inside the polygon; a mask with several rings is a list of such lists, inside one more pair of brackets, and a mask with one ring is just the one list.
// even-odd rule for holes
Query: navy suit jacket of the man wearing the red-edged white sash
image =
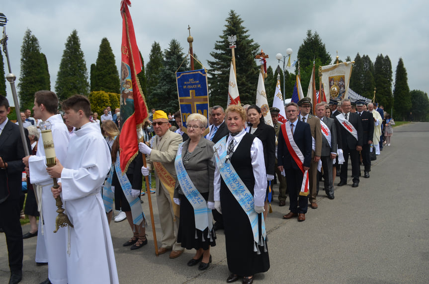
{"label": "navy suit jacket of the man wearing the red-edged white sash", "polygon": [[[304,166],[310,167],[311,152],[313,150],[310,125],[298,120],[296,128],[293,131],[293,140],[304,155]],[[299,170],[298,165],[295,163],[295,160],[290,155],[289,149],[286,146],[286,142],[283,137],[283,129],[280,129],[280,133],[278,135],[277,165],[283,166],[285,170],[291,168]]]}

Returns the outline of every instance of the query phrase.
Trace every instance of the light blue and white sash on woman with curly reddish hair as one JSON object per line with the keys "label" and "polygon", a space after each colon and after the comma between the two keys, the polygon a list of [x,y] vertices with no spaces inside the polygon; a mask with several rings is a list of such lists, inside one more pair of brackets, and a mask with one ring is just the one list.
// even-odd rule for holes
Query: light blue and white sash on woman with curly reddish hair
{"label": "light blue and white sash on woman with curly reddish hair", "polygon": [[263,214],[261,214],[262,233],[259,239],[258,213],[255,212],[255,199],[253,195],[250,193],[249,189],[244,184],[244,182],[241,180],[237,171],[234,169],[230,159],[228,160],[226,159],[226,155],[227,155],[226,144],[227,144],[228,137],[229,135],[227,135],[225,139],[221,139],[213,146],[213,149],[215,151],[216,164],[226,186],[231,191],[232,195],[240,204],[241,208],[249,218],[250,224],[252,226],[253,239],[255,241],[254,251],[260,254],[258,246],[264,246],[264,251],[265,252],[267,251],[265,246],[266,231],[265,231],[265,222],[263,219]]}

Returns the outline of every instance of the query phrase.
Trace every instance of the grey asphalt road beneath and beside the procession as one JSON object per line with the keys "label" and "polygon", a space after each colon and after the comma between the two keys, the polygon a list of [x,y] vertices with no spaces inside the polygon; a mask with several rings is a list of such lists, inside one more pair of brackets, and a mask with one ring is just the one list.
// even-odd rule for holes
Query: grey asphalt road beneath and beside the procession
{"label": "grey asphalt road beneath and beside the procession", "polygon": [[[394,131],[392,146],[373,161],[371,177],[362,178],[356,189],[349,179],[348,185],[336,188],[335,200],[319,196],[319,209],[309,209],[305,222],[283,220],[288,201],[286,207],[274,202],[266,221],[271,268],[256,275],[256,283],[429,283],[429,123]],[[156,210],[155,197],[153,204]],[[148,216],[147,198],[143,208]],[[160,240],[157,211],[155,222]],[[113,222],[110,228],[120,283],[226,282],[223,231],[212,248],[213,263],[201,273],[186,266],[194,251],[177,259],[156,257],[150,228],[149,244],[135,251],[122,247],[131,237],[126,221]],[[23,226],[24,232],[28,229]],[[36,238],[24,240],[23,284],[47,278],[47,267],[35,265],[35,243]],[[7,283],[4,234],[0,244],[0,283]]]}

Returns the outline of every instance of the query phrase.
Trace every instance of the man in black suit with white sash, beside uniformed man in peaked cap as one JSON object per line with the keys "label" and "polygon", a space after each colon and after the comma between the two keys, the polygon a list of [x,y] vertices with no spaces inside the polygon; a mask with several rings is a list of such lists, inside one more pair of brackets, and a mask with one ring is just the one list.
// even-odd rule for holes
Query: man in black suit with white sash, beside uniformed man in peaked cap
{"label": "man in black suit with white sash, beside uniformed man in peaked cap", "polygon": [[351,159],[351,176],[353,177],[352,187],[359,186],[359,151],[362,150],[362,122],[357,113],[351,113],[351,103],[349,99],[343,99],[341,103],[342,114],[336,116],[337,127],[341,130],[343,144],[344,163],[341,166],[340,183],[343,186],[347,183],[348,155]]}

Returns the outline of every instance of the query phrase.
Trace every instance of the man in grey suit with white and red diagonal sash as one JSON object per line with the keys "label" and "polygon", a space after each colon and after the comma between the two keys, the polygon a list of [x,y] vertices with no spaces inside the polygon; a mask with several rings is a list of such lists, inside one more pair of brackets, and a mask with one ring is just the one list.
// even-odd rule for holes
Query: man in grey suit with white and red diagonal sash
{"label": "man in grey suit with white and red diagonal sash", "polygon": [[[326,108],[323,103],[316,105],[316,116],[320,119],[322,129],[322,161],[325,192],[329,199],[334,199],[334,176],[332,174],[332,161],[337,157],[337,129],[335,120],[325,116]],[[320,172],[318,173],[320,175]],[[319,180],[319,178],[317,179]],[[319,182],[317,182],[317,192],[319,192]]]}

